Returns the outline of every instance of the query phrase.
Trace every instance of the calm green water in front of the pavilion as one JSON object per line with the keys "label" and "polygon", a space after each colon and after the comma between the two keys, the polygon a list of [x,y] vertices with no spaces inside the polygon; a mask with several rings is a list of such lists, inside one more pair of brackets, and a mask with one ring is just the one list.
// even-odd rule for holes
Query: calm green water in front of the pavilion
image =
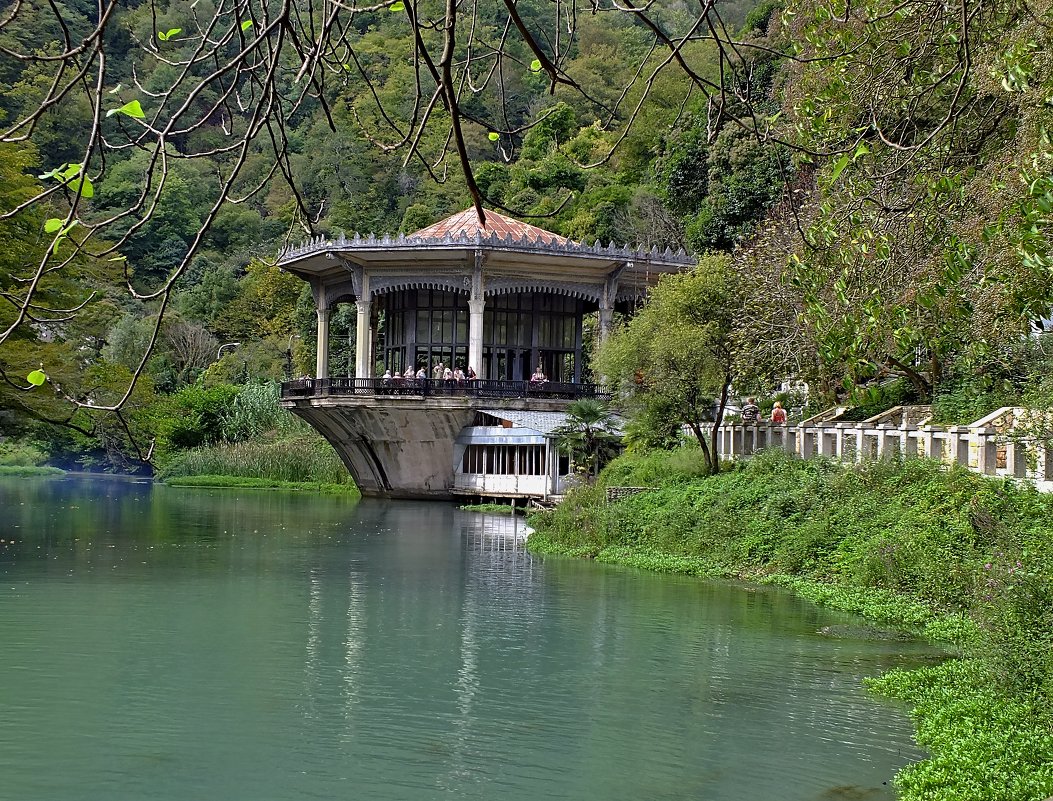
{"label": "calm green water in front of the pavilion", "polygon": [[0,799],[878,801],[919,759],[772,588],[441,503],[0,480]]}

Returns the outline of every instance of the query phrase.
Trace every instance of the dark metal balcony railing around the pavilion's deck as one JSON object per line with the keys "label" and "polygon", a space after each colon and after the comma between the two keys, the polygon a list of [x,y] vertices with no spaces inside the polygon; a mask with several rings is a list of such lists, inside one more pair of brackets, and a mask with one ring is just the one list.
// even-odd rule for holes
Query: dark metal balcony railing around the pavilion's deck
{"label": "dark metal balcony railing around the pavilion's deck", "polygon": [[301,378],[281,385],[282,400],[416,396],[420,398],[537,398],[539,400],[611,400],[612,393],[597,384],[555,381],[442,381],[392,378]]}

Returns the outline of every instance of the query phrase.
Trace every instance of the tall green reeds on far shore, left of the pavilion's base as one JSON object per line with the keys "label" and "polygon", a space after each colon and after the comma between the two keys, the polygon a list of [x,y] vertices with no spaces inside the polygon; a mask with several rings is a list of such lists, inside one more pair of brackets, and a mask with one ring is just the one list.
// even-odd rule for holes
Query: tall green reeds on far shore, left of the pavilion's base
{"label": "tall green reeds on far shore, left of the pavilion's base", "polygon": [[332,445],[314,432],[281,439],[224,442],[183,450],[167,459],[157,476],[168,483],[188,477],[221,476],[227,479],[354,486],[347,468]]}

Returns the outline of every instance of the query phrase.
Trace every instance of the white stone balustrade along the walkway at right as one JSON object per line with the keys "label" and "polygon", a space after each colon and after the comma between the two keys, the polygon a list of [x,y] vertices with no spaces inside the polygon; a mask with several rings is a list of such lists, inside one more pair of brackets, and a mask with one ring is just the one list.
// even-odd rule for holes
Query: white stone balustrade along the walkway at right
{"label": "white stone balustrade along the walkway at right", "polygon": [[896,406],[862,422],[837,422],[836,414],[826,412],[795,425],[729,423],[717,433],[717,453],[741,459],[778,447],[806,459],[845,462],[925,457],[988,476],[1028,479],[1039,490],[1053,492],[1053,442],[1045,413],[1006,406],[969,425],[945,426],[929,424],[928,412],[928,406]]}

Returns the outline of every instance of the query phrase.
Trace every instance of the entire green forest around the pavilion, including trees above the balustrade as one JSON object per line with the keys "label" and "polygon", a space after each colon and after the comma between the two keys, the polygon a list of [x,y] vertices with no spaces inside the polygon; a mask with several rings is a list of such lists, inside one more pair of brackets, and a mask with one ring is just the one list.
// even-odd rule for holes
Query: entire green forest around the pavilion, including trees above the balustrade
{"label": "entire green forest around the pavilion, including trees above the balustrade", "polygon": [[[283,244],[473,203],[707,255],[719,291],[678,313],[707,338],[696,408],[788,376],[817,405],[949,420],[1041,402],[1049,21],[1009,0],[17,4],[2,435],[117,469],[220,441],[238,387],[313,363]],[[353,336],[337,311],[337,373]],[[674,405],[637,410],[660,439]]]}

